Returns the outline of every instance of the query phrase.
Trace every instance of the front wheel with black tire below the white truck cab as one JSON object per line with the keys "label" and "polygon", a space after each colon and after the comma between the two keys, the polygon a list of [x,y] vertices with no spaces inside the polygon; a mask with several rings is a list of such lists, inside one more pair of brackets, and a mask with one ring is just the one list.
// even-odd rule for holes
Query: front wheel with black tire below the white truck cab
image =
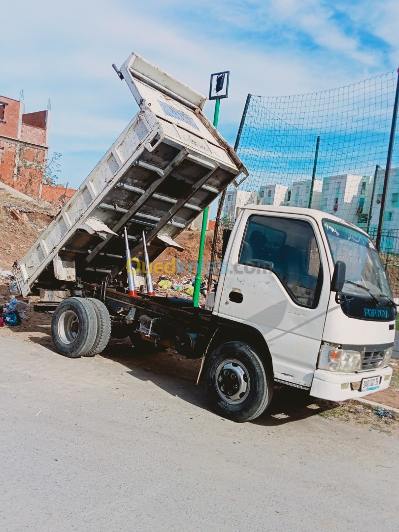
{"label": "front wheel with black tire below the white truck cab", "polygon": [[225,342],[210,353],[205,391],[212,409],[231,421],[243,422],[264,412],[273,395],[274,381],[253,347]]}

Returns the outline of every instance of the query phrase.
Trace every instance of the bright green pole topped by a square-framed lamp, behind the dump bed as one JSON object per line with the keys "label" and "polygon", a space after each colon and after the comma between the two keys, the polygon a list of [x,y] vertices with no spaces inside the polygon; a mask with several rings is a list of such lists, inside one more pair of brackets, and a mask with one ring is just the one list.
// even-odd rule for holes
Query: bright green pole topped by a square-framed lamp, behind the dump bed
{"label": "bright green pole topped by a square-framed lamp, behind the dump bed", "polygon": [[[230,74],[229,71],[217,72],[215,74],[211,74],[209,99],[215,100],[215,111],[213,114],[213,126],[215,128],[218,127],[218,122],[219,122],[220,100],[221,98],[227,98],[228,96],[229,74]],[[208,213],[209,213],[209,207],[205,207],[204,212],[202,214],[200,250],[198,251],[197,273],[196,273],[195,282],[194,282],[193,303],[195,307],[198,307],[200,304],[201,270],[202,270],[202,261],[203,261],[203,255],[204,255],[206,227],[208,223]]]}

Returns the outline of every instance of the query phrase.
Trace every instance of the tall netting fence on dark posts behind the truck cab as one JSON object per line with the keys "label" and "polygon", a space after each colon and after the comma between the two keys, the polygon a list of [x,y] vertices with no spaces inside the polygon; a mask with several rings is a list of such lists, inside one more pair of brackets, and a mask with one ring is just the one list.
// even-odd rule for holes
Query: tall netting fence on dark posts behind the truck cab
{"label": "tall netting fence on dark posts behind the truck cab", "polygon": [[[396,83],[393,71],[312,94],[248,95],[235,148],[250,176],[226,190],[215,253],[223,230],[252,203],[312,207],[376,237]],[[380,246],[389,264],[399,253],[399,145],[393,146]],[[396,266],[387,268],[392,277]]]}

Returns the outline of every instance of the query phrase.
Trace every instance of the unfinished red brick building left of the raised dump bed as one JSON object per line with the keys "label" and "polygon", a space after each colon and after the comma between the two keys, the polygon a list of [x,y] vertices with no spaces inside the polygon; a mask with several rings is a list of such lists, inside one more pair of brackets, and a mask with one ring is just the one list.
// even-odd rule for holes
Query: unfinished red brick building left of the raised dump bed
{"label": "unfinished red brick building left of the raised dump bed", "polygon": [[75,192],[45,181],[50,111],[24,113],[23,103],[0,96],[0,181],[57,204]]}

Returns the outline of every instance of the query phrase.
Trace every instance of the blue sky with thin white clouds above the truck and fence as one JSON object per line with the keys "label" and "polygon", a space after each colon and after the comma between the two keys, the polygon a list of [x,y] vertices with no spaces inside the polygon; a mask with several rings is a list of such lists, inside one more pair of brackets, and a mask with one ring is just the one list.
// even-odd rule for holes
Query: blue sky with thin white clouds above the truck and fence
{"label": "blue sky with thin white clouds above the truck and fence", "polygon": [[59,182],[73,187],[137,111],[111,68],[130,52],[204,94],[211,72],[230,70],[219,129],[231,144],[247,93],[315,92],[399,62],[393,0],[21,0],[1,18],[0,94],[18,99],[23,88],[26,112],[51,98],[50,152],[63,154]]}

